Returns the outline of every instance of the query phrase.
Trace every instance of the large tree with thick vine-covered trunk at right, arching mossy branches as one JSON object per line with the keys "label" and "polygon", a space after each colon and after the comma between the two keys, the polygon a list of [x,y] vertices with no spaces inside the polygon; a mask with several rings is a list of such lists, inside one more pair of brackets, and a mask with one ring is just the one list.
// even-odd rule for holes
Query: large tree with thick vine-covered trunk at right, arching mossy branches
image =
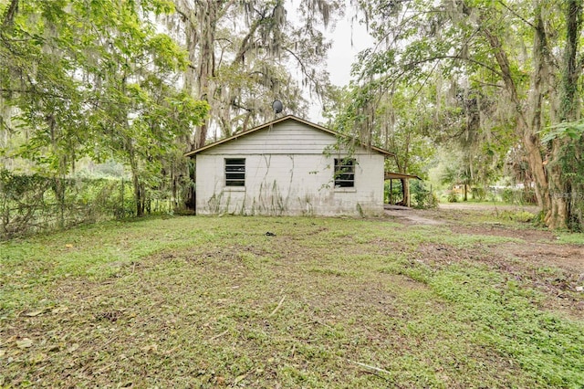
{"label": "large tree with thick vine-covered trunk at right, arching mossy branches", "polygon": [[565,194],[575,166],[566,172],[559,161],[577,142],[563,137],[543,144],[540,134],[579,119],[581,2],[356,3],[379,41],[379,49],[363,52],[355,68],[361,82],[375,85],[364,104],[375,105],[376,96],[396,84],[431,79],[438,71],[450,80],[467,79],[485,96],[503,97],[495,111],[505,114],[495,117],[495,128],[512,124],[512,133],[501,134],[506,143],[520,142],[547,226],[566,227],[573,207]]}

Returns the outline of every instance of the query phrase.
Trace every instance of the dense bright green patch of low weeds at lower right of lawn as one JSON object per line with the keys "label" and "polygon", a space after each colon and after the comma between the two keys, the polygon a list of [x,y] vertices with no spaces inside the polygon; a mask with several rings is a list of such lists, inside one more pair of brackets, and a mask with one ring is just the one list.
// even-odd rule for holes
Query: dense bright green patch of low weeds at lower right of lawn
{"label": "dense bright green patch of low weeds at lower right of lawn", "polygon": [[[513,357],[534,378],[550,386],[584,384],[584,377],[577,373],[584,368],[579,350],[584,332],[554,315],[533,310],[531,300],[537,299],[537,293],[532,290],[512,281],[502,288],[485,286],[502,281],[483,268],[454,266],[427,282],[445,299],[464,307],[463,317],[481,323],[479,342]],[[562,361],[562,366],[555,365],[556,361]]]}

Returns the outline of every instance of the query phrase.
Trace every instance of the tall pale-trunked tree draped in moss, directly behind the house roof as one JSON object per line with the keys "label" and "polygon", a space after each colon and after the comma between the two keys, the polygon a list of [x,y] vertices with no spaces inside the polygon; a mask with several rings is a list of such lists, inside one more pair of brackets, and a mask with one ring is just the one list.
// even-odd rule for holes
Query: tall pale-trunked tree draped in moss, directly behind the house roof
{"label": "tall pale-trunked tree draped in moss, directly behind the house roof", "polygon": [[[211,114],[197,128],[191,149],[206,142],[209,128],[222,136],[272,120],[272,100],[303,116],[301,87],[289,70],[298,68],[301,84],[318,96],[328,84],[324,67],[330,44],[319,26],[339,12],[339,1],[302,0],[300,26],[287,18],[284,0],[175,0],[172,30],[189,52],[184,87],[206,100]],[[177,23],[178,22],[178,23]]]}

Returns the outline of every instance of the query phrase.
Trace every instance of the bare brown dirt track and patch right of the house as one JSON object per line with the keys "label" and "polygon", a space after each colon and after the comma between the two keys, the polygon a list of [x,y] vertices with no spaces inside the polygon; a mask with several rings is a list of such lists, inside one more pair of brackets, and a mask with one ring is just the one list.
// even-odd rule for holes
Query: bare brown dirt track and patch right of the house
{"label": "bare brown dirt track and patch right of the house", "polygon": [[[558,235],[526,224],[512,226],[505,222],[482,221],[481,215],[504,212],[537,213],[534,206],[441,204],[438,209],[419,210],[391,206],[385,214],[404,225],[447,226],[455,234],[509,237],[514,241],[484,245],[484,253],[475,249],[455,249],[428,244],[420,248],[425,258],[450,260],[480,258],[508,274],[510,280],[527,282],[543,291],[548,299],[544,307],[563,310],[577,319],[584,318],[584,239],[581,243],[558,242]],[[485,256],[486,253],[486,256]]]}

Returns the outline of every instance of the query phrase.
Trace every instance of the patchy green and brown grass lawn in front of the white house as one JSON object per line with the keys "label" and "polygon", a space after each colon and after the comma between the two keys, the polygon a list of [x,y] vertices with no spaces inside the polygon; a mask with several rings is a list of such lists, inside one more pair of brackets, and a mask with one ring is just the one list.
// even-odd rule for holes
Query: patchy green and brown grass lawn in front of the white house
{"label": "patchy green and brown grass lawn in front of the white house", "polygon": [[584,387],[584,238],[447,212],[1,243],[0,387]]}

